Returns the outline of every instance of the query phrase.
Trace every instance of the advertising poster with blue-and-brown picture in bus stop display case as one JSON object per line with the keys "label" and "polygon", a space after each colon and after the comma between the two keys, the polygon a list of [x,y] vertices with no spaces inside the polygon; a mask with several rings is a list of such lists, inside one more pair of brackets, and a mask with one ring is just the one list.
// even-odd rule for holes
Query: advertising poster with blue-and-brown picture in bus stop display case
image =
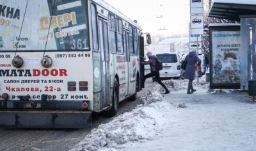
{"label": "advertising poster with blue-and-brown picture in bus stop display case", "polygon": [[240,88],[240,31],[211,31],[210,88]]}

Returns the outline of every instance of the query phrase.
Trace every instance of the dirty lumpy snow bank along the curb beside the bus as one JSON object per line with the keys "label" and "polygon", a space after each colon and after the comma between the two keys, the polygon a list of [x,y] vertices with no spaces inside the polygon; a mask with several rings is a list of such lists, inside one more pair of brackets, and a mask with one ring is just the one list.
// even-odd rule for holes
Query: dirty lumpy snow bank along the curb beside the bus
{"label": "dirty lumpy snow bank along the curb beside the bus", "polygon": [[156,91],[148,91],[143,96],[145,97],[141,98],[138,107],[113,118],[109,123],[99,125],[72,151],[99,150],[128,142],[143,142],[161,133],[165,127],[166,116],[170,116],[177,107]]}

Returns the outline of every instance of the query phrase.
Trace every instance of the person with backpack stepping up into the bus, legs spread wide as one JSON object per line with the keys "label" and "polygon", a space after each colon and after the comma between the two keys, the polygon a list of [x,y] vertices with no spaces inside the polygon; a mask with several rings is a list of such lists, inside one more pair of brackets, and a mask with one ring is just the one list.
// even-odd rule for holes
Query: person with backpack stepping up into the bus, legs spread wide
{"label": "person with backpack stepping up into the bus, legs spread wide", "polygon": [[[163,86],[165,93],[164,94],[168,94],[170,93],[170,91],[168,90],[168,88],[166,88],[166,86],[162,83],[161,79],[160,79],[160,74],[159,71],[156,70],[156,60],[157,60],[157,56],[152,55],[152,52],[148,51],[147,52],[147,56],[148,56],[148,61],[141,61],[142,65],[150,65],[150,73],[145,75],[143,77],[142,82],[145,83],[146,79],[148,77],[156,77],[157,82]],[[144,84],[143,84],[144,85]]]}

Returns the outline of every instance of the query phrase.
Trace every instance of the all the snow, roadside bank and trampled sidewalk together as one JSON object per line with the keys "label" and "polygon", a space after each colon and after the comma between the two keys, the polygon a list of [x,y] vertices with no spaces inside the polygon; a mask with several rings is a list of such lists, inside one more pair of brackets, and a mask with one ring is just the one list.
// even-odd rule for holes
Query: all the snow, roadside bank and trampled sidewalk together
{"label": "all the snow, roadside bank and trampled sidewalk together", "polygon": [[205,76],[193,81],[193,94],[187,80],[164,84],[170,94],[147,79],[136,108],[93,129],[72,151],[255,150],[256,110],[247,93],[209,90]]}

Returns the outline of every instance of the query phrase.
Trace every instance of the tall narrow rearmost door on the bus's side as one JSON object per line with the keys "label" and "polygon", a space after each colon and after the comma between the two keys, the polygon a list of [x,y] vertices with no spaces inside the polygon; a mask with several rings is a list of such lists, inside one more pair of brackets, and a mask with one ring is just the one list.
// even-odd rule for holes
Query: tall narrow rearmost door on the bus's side
{"label": "tall narrow rearmost door on the bus's side", "polygon": [[106,107],[110,104],[110,74],[109,74],[109,42],[108,21],[99,17],[99,38],[101,58],[101,100],[100,106]]}

